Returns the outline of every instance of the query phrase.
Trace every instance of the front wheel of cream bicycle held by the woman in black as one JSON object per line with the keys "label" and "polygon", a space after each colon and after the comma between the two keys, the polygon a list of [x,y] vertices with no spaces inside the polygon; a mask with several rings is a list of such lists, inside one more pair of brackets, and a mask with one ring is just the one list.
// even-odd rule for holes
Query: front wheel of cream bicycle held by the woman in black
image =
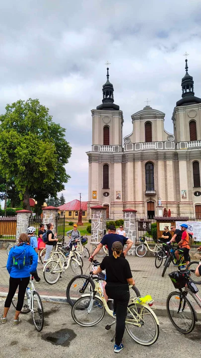
{"label": "front wheel of cream bicycle held by the woman in black", "polygon": [[91,327],[99,323],[105,314],[105,308],[100,298],[91,295],[80,297],[72,307],[72,318],[80,326]]}

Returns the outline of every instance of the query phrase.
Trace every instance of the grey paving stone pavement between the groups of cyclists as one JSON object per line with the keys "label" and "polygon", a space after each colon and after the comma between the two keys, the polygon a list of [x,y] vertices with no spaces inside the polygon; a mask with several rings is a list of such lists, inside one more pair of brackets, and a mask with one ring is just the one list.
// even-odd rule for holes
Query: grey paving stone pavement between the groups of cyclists
{"label": "grey paving stone pavement between the groups of cyclists", "polygon": [[[101,262],[101,259],[98,259]],[[165,277],[161,276],[163,265],[156,269],[153,257],[138,258],[134,256],[127,256],[130,263],[135,285],[139,289],[140,294],[150,294],[154,299],[154,304],[157,306],[165,306],[167,295],[174,291],[174,286],[168,276],[168,273],[176,270],[173,265],[167,269]],[[0,250],[0,292],[8,292],[9,274],[6,270],[7,254],[5,250]],[[89,272],[89,262],[84,259],[83,273]],[[53,285],[48,284],[43,277],[43,265],[38,264],[38,275],[41,281],[36,283],[36,289],[41,295],[47,296],[63,296],[66,298],[66,288],[69,280],[74,276],[70,269],[63,274],[63,277]]]}

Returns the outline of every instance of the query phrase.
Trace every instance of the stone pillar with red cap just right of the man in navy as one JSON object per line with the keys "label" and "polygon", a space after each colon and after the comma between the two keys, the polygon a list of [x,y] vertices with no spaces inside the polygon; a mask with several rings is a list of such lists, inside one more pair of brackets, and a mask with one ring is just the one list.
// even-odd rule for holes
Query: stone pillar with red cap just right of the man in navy
{"label": "stone pillar with red cap just right of the man in navy", "polygon": [[128,255],[135,256],[135,241],[136,241],[136,212],[134,209],[125,209],[124,213],[124,230],[126,231],[126,237],[134,242]]}

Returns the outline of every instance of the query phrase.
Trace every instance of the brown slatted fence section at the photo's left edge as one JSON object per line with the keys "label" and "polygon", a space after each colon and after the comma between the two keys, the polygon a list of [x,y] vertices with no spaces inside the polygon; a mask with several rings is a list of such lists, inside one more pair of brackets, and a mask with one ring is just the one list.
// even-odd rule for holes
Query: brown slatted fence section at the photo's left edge
{"label": "brown slatted fence section at the photo's left edge", "polygon": [[16,216],[0,217],[0,239],[13,240],[16,239]]}

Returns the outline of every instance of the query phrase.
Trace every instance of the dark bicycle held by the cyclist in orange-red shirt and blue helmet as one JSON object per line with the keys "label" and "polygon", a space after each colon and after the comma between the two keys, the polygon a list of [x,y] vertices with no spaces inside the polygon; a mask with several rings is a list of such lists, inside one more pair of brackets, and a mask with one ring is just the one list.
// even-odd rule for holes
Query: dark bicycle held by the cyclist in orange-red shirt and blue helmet
{"label": "dark bicycle held by the cyclist in orange-red shirt and blue helmet", "polygon": [[[167,244],[164,244],[164,245],[167,245]],[[167,256],[166,256],[164,269],[163,269],[163,272],[162,272],[162,277],[164,277],[165,271],[170,266],[171,262],[173,263],[174,266],[177,266],[179,270],[186,269],[186,267],[185,267],[186,261],[184,260],[184,253],[183,253],[182,249],[174,249],[174,247],[172,245],[168,245],[168,246],[169,246],[170,250],[169,250],[169,252],[167,253]],[[179,265],[177,265],[177,259],[175,257],[175,251],[180,252],[180,254],[179,254],[179,260],[180,260]],[[157,255],[157,260],[158,261],[162,261],[161,252],[162,252],[162,250]],[[189,261],[190,260],[191,259],[190,259],[190,256],[189,256]],[[155,259],[155,263],[156,263],[156,259]]]}

